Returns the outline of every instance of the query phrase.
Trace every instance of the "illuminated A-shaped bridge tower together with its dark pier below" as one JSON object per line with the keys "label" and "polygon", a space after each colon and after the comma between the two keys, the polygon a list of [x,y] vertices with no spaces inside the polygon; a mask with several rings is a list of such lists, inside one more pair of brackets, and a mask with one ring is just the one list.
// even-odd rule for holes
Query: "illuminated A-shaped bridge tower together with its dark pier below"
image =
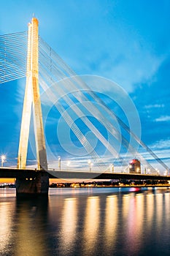
{"label": "illuminated A-shaped bridge tower together with its dark pier below", "polygon": [[23,116],[20,128],[20,144],[18,150],[18,169],[26,169],[28,151],[28,137],[31,121],[31,108],[34,115],[34,134],[36,141],[37,175],[36,178],[16,180],[18,194],[46,194],[49,187],[47,170],[47,154],[45,149],[45,135],[42,123],[42,107],[39,94],[39,33],[38,20],[32,18],[28,23],[27,73],[26,91],[23,102]]}

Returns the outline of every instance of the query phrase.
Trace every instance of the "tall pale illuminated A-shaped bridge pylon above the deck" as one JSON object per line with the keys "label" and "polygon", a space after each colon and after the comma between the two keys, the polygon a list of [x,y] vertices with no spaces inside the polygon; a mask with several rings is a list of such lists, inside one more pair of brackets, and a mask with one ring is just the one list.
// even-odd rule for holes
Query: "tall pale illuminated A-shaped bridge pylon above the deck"
{"label": "tall pale illuminated A-shaped bridge pylon above the deck", "polygon": [[36,141],[36,159],[39,170],[47,170],[45,135],[42,123],[42,107],[39,94],[39,33],[38,20],[32,18],[28,23],[26,91],[23,102],[23,116],[20,127],[18,150],[18,169],[26,168],[28,137],[31,121],[31,108],[34,114],[34,134]]}

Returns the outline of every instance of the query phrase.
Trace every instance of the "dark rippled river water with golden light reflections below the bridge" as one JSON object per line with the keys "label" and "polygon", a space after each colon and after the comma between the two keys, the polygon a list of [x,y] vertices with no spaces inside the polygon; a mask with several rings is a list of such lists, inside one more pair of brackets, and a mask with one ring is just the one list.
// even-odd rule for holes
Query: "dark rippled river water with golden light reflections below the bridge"
{"label": "dark rippled river water with golden light reflections below the bridge", "polygon": [[170,189],[136,190],[0,189],[0,255],[170,255]]}

